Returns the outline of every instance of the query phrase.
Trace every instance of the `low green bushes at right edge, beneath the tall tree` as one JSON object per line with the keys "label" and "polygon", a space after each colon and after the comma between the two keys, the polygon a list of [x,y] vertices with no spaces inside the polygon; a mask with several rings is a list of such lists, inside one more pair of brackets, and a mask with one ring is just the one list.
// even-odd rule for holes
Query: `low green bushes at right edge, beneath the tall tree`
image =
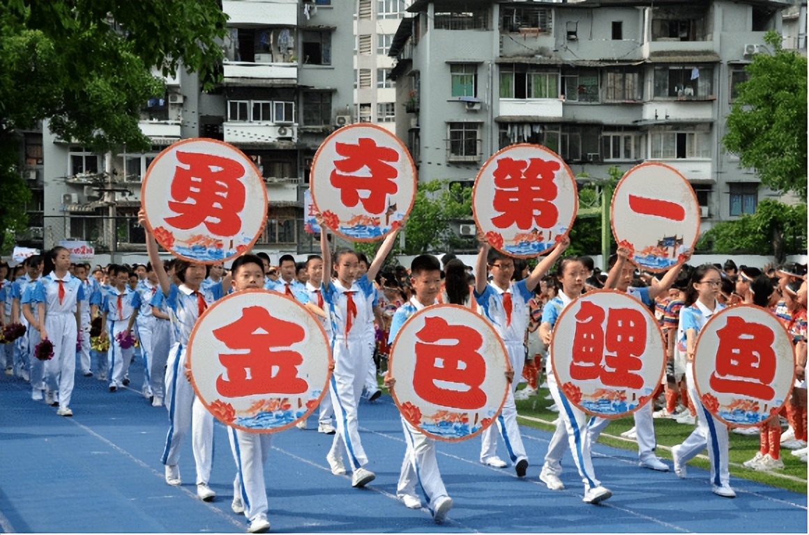
{"label": "low green bushes at right edge, beneath the tall tree", "polygon": [[736,221],[722,221],[705,232],[697,249],[710,247],[722,254],[773,255],[782,262],[786,255],[806,250],[806,236],[806,204],[789,205],[764,199],[756,207],[756,213],[745,214]]}

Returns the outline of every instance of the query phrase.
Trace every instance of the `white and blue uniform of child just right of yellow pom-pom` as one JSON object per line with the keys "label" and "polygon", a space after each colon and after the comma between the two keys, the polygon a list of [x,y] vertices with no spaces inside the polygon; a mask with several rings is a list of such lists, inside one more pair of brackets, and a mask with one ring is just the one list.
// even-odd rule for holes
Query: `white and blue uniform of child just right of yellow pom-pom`
{"label": "white and blue uniform of child just right of yellow pom-pom", "polygon": [[121,348],[117,336],[125,332],[129,326],[129,318],[141,306],[141,297],[129,285],[123,291],[109,287],[101,302],[101,310],[107,314],[107,335],[109,338],[108,376],[110,389],[118,389],[124,385],[124,377],[129,373],[129,362],[132,360],[133,347]]}

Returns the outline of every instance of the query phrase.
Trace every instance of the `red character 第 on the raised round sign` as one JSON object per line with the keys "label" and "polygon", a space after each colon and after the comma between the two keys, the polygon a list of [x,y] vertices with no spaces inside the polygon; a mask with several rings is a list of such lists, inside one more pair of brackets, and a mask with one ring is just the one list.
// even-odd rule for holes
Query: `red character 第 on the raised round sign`
{"label": "red character \u7b2c on the raised round sign", "polygon": [[501,215],[493,217],[492,224],[498,229],[516,224],[520,230],[535,223],[543,229],[556,225],[559,210],[551,201],[557,198],[553,177],[560,167],[559,162],[542,158],[499,158],[493,172],[493,208]]}

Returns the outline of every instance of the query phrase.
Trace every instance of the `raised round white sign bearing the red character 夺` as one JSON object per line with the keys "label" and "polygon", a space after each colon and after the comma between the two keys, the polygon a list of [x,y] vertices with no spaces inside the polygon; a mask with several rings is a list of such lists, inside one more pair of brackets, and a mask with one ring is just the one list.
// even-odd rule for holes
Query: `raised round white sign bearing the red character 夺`
{"label": "raised round white sign bearing the red character \u593a", "polygon": [[356,242],[396,230],[416,200],[413,158],[375,124],[350,124],[329,135],[315,154],[310,182],[328,228]]}

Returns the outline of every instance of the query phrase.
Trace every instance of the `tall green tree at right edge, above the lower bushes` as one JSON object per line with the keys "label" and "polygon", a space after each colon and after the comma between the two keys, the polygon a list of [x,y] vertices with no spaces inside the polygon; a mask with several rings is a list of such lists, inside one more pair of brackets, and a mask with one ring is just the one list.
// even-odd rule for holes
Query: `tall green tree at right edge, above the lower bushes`
{"label": "tall green tree at right edge, above the lower bushes", "polygon": [[752,167],[761,183],[778,192],[807,195],[807,58],[781,48],[768,32],[772,55],[756,54],[739,84],[727,133],[727,150]]}

